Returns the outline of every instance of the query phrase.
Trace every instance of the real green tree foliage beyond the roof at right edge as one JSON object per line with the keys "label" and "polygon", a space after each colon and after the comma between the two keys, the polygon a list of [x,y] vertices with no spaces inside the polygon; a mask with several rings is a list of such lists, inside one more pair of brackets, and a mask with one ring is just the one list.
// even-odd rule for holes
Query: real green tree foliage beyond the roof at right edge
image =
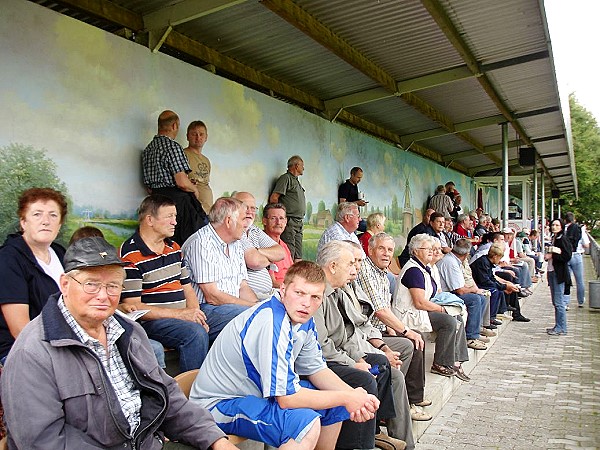
{"label": "real green tree foliage beyond the roof at right edge", "polygon": [[600,127],[573,94],[569,96],[569,104],[579,199],[574,194],[563,195],[566,201],[563,211],[573,211],[578,222],[588,222],[593,227],[600,220]]}

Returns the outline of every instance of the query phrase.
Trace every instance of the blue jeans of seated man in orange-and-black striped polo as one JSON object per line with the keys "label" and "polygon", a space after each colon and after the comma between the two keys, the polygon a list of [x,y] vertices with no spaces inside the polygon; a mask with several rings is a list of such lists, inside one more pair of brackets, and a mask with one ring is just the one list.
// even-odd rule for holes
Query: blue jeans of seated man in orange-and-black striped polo
{"label": "blue jeans of seated man in orange-and-black striped polo", "polygon": [[208,333],[202,325],[180,319],[147,320],[141,323],[150,339],[179,352],[179,370],[199,369],[208,353]]}

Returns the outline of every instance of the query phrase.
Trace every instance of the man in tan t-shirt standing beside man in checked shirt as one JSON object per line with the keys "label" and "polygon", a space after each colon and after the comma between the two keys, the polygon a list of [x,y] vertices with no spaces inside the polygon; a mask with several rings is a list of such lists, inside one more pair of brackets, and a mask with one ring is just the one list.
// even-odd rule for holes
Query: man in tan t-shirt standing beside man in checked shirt
{"label": "man in tan t-shirt standing beside man in checked shirt", "polygon": [[188,158],[192,171],[188,177],[198,189],[198,197],[202,203],[202,209],[208,214],[213,204],[212,189],[210,183],[210,160],[202,153],[202,148],[208,140],[208,130],[201,120],[194,120],[188,125],[188,146],[183,149]]}

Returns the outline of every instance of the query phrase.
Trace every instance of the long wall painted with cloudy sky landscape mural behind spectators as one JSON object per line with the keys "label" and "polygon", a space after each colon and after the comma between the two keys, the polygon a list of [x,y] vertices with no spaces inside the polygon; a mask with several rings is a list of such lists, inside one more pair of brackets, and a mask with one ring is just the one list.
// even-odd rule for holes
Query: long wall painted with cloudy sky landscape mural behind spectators
{"label": "long wall painted with cloudy sky landscape mural behind spectators", "polygon": [[[2,3],[1,239],[14,230],[18,191],[50,174],[70,197],[67,237],[92,223],[120,243],[135,227],[141,151],[164,109],[183,130],[207,123],[215,197],[244,190],[264,205],[287,159],[303,157],[309,257],[325,225],[317,214],[335,214],[337,186],[355,165],[363,214],[384,212],[401,245],[436,185],[453,180],[463,206],[475,205],[472,180],[455,171],[25,0]],[[184,131],[178,141],[187,146]]]}

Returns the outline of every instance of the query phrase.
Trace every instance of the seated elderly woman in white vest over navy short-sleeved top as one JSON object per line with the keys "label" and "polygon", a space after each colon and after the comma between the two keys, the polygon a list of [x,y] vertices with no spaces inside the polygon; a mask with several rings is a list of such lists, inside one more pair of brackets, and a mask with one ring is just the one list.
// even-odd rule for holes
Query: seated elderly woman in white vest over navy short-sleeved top
{"label": "seated elderly woman in white vest over navy short-sleeved top", "polygon": [[411,329],[437,333],[432,373],[469,381],[461,366],[469,356],[460,316],[453,317],[444,306],[430,301],[440,284],[431,274],[435,244],[436,239],[427,234],[418,234],[410,241],[411,258],[398,276],[392,310]]}

